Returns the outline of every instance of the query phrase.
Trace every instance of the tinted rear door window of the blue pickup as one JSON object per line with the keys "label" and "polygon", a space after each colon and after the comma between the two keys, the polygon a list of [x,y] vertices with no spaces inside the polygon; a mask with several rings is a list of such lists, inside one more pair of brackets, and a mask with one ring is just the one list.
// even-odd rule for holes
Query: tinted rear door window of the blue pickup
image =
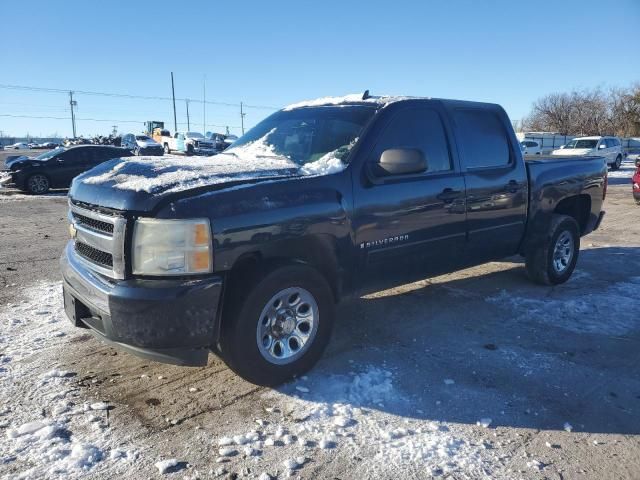
{"label": "tinted rear door window of the blue pickup", "polygon": [[511,161],[507,132],[500,118],[486,110],[456,110],[458,136],[467,168],[506,167]]}

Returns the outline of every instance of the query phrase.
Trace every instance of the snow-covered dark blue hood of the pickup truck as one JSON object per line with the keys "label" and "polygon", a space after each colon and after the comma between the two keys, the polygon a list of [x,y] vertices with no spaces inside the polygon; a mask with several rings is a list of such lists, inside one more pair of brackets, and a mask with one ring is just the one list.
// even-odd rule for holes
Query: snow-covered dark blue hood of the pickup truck
{"label": "snow-covered dark blue hood of the pickup truck", "polygon": [[[266,136],[265,136],[266,137]],[[336,152],[298,165],[278,155],[264,138],[211,157],[137,157],[98,165],[71,184],[71,199],[92,205],[150,212],[167,199],[266,180],[326,175],[346,167]]]}

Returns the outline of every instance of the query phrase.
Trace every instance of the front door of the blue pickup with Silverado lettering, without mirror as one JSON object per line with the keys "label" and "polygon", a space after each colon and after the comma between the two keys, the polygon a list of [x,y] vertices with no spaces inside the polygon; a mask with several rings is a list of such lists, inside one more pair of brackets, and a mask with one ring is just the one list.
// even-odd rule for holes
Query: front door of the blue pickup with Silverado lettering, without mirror
{"label": "front door of the blue pickup with Silverado lettering, without mirror", "polygon": [[[354,178],[355,242],[364,277],[374,283],[452,270],[465,243],[464,180],[439,104],[394,109]],[[372,179],[371,164],[396,148],[421,150],[427,170]]]}

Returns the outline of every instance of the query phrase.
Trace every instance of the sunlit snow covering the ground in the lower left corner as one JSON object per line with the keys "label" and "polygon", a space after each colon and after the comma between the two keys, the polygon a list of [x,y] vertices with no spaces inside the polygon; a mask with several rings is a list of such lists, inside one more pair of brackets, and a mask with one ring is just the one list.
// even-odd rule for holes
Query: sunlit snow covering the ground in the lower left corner
{"label": "sunlit snow covering the ground in the lower left corner", "polygon": [[64,317],[60,284],[24,296],[0,310],[0,473],[10,472],[3,478],[73,479],[134,461],[135,449],[111,438],[108,404],[83,400],[75,372],[42,362],[78,336]]}

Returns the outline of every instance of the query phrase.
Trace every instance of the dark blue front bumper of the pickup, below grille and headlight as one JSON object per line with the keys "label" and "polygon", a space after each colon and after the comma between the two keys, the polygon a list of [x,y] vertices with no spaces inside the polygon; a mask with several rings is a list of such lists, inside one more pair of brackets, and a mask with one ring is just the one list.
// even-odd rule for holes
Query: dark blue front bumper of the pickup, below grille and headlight
{"label": "dark blue front bumper of the pickup, below grille and headlight", "polygon": [[87,268],[73,242],[60,268],[65,311],[75,326],[150,360],[207,364],[217,332],[221,277],[114,282]]}

